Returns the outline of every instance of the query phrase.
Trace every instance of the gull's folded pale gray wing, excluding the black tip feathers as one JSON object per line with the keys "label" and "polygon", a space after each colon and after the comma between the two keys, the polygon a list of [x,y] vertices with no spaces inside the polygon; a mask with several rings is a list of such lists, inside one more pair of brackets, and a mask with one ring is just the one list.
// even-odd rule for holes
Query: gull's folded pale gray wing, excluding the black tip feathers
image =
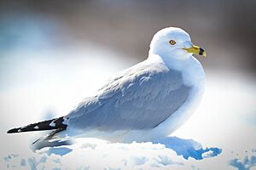
{"label": "gull's folded pale gray wing, excluding the black tip feathers", "polygon": [[68,115],[68,126],[104,130],[149,129],[171,116],[190,88],[180,72],[141,64],[113,77],[95,97]]}

